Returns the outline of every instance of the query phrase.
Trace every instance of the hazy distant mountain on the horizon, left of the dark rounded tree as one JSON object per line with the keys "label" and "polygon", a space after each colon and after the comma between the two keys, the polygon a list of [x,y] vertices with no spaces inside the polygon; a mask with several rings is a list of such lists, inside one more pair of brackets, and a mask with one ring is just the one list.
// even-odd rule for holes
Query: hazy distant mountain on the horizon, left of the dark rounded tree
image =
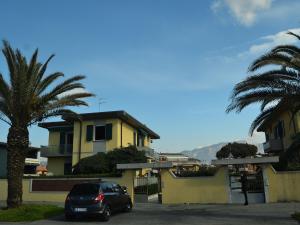
{"label": "hazy distant mountain on the horizon, left of the dark rounded tree", "polygon": [[[246,141],[238,141],[239,143],[246,143]],[[211,160],[216,159],[216,153],[223,146],[227,145],[229,142],[221,142],[218,144],[213,144],[205,147],[195,148],[193,150],[182,151],[181,153],[192,158],[201,160],[203,163],[210,164]],[[258,152],[263,152],[263,145],[256,144]]]}

